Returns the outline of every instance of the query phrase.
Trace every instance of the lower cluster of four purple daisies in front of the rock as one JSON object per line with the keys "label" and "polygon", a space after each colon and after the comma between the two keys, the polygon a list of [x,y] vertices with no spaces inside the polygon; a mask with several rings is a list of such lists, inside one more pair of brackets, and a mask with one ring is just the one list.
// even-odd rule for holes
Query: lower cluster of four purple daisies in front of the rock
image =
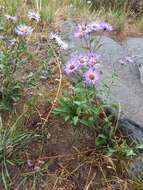
{"label": "lower cluster of four purple daisies in front of the rock", "polygon": [[89,85],[95,85],[99,80],[99,56],[94,53],[79,53],[66,63],[64,71],[67,76],[80,76]]}

